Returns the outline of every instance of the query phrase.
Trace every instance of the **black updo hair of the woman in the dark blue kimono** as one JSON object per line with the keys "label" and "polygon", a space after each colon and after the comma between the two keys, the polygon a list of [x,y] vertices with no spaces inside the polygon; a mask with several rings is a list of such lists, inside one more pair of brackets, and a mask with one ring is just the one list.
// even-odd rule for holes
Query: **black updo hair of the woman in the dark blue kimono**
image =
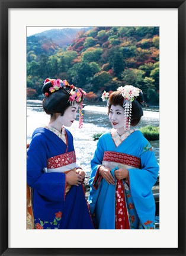
{"label": "black updo hair of the woman in the dark blue kimono", "polygon": [[[62,86],[59,88],[59,90],[51,93],[49,89],[52,86],[52,83],[48,81],[46,84],[44,84],[42,88],[43,94],[47,94],[47,96],[43,99],[43,109],[48,115],[52,116],[53,113],[60,113],[63,116],[65,110],[72,105],[69,101],[70,91],[72,90],[72,88],[70,87],[70,85]],[[76,89],[78,88],[73,87],[73,91],[75,91]],[[81,102],[82,100],[83,94],[81,97]]]}

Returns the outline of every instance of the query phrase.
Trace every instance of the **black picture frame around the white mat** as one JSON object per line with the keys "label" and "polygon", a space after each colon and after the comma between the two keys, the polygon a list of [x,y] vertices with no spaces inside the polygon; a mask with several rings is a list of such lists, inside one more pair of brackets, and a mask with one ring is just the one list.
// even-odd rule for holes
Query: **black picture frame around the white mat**
{"label": "black picture frame around the white mat", "polygon": [[[186,2],[179,0],[25,1],[0,0],[0,252],[1,255],[185,255],[185,56]],[[9,8],[178,9],[178,248],[9,248],[8,247],[8,10]],[[171,106],[170,106],[171,108]],[[171,121],[170,121],[171,122]],[[168,174],[167,174],[168,175]],[[174,206],[171,206],[174,207]],[[177,220],[173,220],[177,222]],[[170,223],[172,225],[173,223]],[[165,238],[166,239],[166,238]]]}

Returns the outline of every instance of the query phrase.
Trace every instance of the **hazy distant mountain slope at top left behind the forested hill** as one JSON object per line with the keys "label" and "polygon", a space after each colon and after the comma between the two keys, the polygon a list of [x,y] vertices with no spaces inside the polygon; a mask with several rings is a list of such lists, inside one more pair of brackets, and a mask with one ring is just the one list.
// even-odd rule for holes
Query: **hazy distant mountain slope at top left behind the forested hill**
{"label": "hazy distant mountain slope at top left behind the forested hill", "polygon": [[78,33],[81,31],[90,30],[91,27],[85,27],[80,29],[71,29],[67,27],[66,29],[51,29],[46,30],[41,33],[34,34],[36,37],[47,37],[48,39],[52,39],[52,41],[59,45],[60,47],[68,46],[72,43],[76,37],[78,37]]}

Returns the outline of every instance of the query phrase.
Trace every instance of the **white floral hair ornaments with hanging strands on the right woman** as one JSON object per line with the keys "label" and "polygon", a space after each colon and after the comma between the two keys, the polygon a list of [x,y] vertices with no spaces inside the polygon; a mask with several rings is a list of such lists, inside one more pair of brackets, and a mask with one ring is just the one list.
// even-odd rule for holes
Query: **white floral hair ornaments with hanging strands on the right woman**
{"label": "white floral hair ornaments with hanging strands on the right woman", "polygon": [[[123,108],[124,108],[124,129],[128,131],[130,129],[130,122],[131,122],[131,116],[132,116],[132,102],[137,96],[139,96],[140,92],[142,93],[142,90],[140,90],[137,87],[134,86],[120,86],[118,87],[117,91],[121,91],[121,95],[123,96]],[[109,104],[109,93],[104,91],[102,93],[102,101],[107,101],[107,106]]]}

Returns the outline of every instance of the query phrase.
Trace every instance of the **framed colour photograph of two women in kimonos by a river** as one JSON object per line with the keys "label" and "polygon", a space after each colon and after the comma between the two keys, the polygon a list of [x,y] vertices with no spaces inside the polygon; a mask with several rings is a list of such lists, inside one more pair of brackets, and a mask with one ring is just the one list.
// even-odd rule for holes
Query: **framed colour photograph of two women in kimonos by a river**
{"label": "framed colour photograph of two women in kimonos by a river", "polygon": [[[159,228],[159,27],[34,29],[43,31],[27,36],[27,229]],[[77,187],[86,199],[75,204]]]}

